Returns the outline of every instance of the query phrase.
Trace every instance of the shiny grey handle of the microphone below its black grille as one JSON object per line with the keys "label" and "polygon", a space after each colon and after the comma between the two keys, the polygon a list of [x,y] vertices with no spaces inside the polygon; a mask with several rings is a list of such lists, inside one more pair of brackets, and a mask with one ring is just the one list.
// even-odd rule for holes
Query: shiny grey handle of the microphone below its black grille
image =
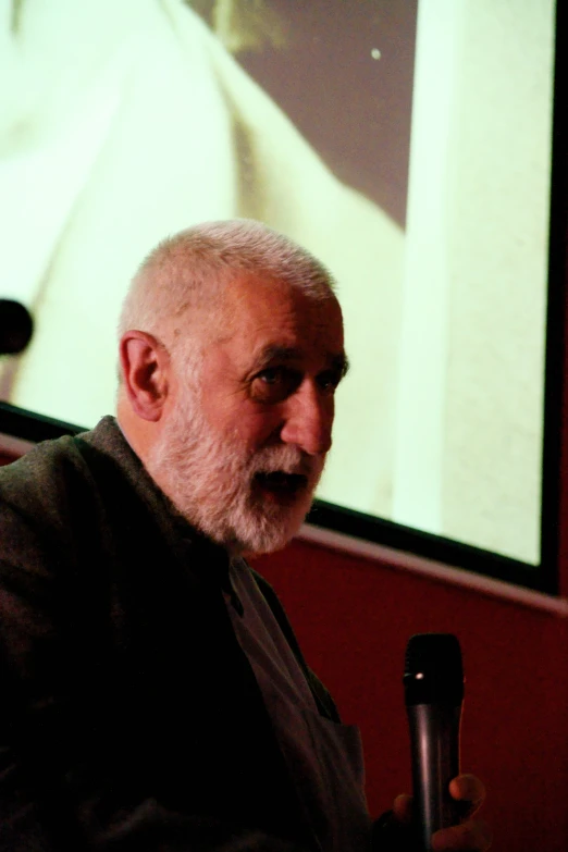
{"label": "shiny grey handle of the microphone below its black grille", "polygon": [[457,802],[448,785],[459,775],[459,725],[461,705],[416,704],[407,706],[412,754],[415,807],[424,852],[440,828],[457,825]]}

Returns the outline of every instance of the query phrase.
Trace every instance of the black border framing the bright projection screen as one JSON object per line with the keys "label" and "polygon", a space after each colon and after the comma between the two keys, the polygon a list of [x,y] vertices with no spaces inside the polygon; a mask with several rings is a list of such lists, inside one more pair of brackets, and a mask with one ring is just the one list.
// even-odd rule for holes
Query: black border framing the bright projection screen
{"label": "black border framing the bright projection screen", "polygon": [[[556,3],[554,110],[551,170],[548,242],[548,301],[544,380],[543,478],[541,501],[541,563],[529,565],[507,556],[420,532],[393,521],[316,501],[307,521],[335,532],[363,539],[477,575],[492,577],[548,594],[558,594],[560,454],[563,403],[565,394],[567,230],[568,230],[568,131],[563,119],[568,87],[565,84],[567,60],[567,13]],[[0,433],[37,443],[65,434],[78,434],[85,428],[0,403]]]}

